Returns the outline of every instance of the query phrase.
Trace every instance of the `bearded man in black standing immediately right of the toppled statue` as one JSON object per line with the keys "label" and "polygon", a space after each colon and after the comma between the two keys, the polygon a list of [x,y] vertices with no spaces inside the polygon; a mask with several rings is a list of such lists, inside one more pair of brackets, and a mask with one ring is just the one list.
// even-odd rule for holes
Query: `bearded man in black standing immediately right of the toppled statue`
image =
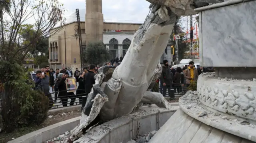
{"label": "bearded man in black standing immediately right of the toppled statue", "polygon": [[173,79],[173,74],[171,72],[171,69],[169,67],[169,63],[167,60],[164,60],[164,66],[162,67],[162,74],[160,76],[160,87],[162,90],[163,96],[166,95],[166,90],[168,90],[168,94],[170,96],[171,93],[171,88],[172,88],[172,79]]}

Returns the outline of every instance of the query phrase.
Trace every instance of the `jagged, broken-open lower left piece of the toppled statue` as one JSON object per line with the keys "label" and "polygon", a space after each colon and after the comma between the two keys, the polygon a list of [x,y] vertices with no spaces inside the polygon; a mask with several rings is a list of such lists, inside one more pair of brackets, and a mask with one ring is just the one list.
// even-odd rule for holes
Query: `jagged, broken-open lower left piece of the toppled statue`
{"label": "jagged, broken-open lower left piece of the toppled statue", "polygon": [[[90,101],[86,103],[87,106],[84,107],[84,110],[82,111],[82,119],[85,117],[85,121],[82,121],[82,119],[80,120],[80,125],[71,131],[71,136],[69,137],[67,143],[73,143],[73,141],[80,138],[87,129],[98,123],[100,120],[98,114],[100,113],[104,103],[108,102],[108,96],[104,94],[99,84],[93,86],[92,91],[88,96],[94,98],[92,100],[91,98],[88,98]],[[90,104],[92,104],[91,108]],[[90,113],[88,114],[88,112]]]}

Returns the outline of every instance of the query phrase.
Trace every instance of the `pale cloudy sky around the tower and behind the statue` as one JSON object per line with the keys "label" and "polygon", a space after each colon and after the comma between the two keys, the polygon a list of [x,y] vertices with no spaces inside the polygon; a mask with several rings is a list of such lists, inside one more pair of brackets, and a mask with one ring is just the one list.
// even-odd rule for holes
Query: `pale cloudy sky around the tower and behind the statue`
{"label": "pale cloudy sky around the tower and behind the statue", "polygon": [[[76,8],[84,9],[86,6],[85,0],[72,0],[72,2],[70,0],[60,0],[60,2],[68,10],[64,13],[67,19],[75,12]],[[143,23],[150,10],[149,5],[150,3],[146,0],[102,0],[102,13],[106,22]],[[84,15],[80,15],[80,18],[84,17]],[[195,20],[193,24],[194,22]],[[182,17],[182,27],[185,28],[185,32],[186,24],[186,17]]]}

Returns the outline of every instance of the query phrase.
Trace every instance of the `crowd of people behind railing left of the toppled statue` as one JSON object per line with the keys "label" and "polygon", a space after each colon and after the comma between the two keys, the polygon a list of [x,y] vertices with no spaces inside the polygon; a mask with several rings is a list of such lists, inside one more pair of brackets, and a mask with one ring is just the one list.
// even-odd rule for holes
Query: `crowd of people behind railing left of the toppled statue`
{"label": "crowd of people behind railing left of the toppled statue", "polygon": [[[49,98],[49,108],[57,103],[58,98],[62,102],[62,106],[68,106],[68,98],[71,99],[70,105],[74,105],[76,98],[79,98],[79,103],[82,104],[82,96],[87,96],[95,83],[94,74],[97,73],[96,67],[90,65],[88,68],[84,67],[80,72],[78,68],[74,72],[74,78],[78,82],[76,94],[67,90],[66,79],[73,77],[70,68],[62,67],[62,69],[50,69],[49,66],[36,71],[36,78],[34,78],[34,90],[43,92]],[[54,92],[53,92],[54,91]],[[54,94],[54,98],[52,97]]]}

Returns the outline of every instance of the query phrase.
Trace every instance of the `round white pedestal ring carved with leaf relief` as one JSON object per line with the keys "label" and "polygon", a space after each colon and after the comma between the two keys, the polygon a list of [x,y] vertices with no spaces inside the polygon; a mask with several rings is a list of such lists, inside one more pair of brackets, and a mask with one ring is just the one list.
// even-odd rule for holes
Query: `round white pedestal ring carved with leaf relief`
{"label": "round white pedestal ring carved with leaf relief", "polygon": [[205,106],[256,124],[255,81],[220,78],[208,72],[199,76],[197,91]]}

